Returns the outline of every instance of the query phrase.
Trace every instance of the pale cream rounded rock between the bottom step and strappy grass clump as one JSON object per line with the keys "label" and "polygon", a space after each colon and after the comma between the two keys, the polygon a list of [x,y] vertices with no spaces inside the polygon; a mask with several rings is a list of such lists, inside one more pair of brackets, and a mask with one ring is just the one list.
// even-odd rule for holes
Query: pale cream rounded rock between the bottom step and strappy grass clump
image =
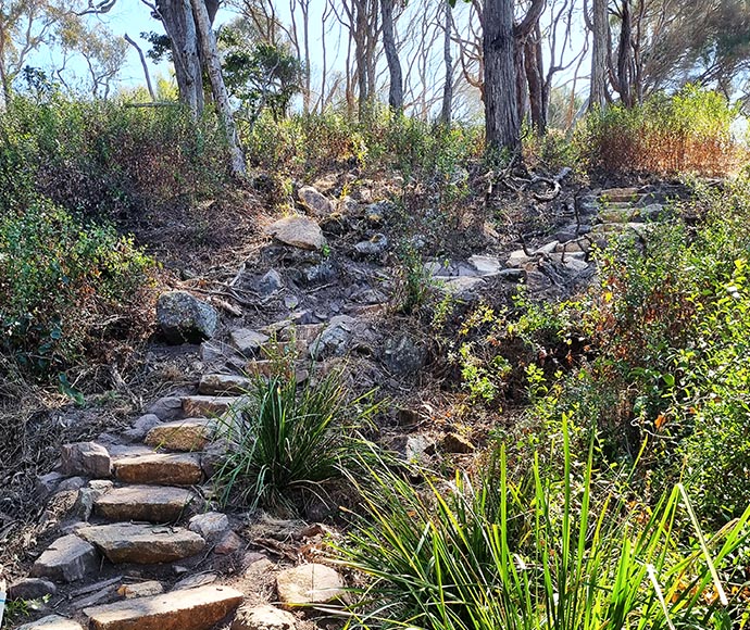
{"label": "pale cream rounded rock between the bottom step and strappy grass clump", "polygon": [[278,598],[287,608],[328,604],[345,595],[337,571],[325,565],[300,565],[276,576]]}

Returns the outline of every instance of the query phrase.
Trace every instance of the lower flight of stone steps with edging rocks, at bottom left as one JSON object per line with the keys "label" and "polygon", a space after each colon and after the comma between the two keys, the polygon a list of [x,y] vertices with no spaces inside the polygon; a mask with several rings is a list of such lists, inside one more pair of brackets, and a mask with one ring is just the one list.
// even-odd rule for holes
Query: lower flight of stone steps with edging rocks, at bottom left
{"label": "lower flight of stone steps with edging rocks, at bottom left", "polygon": [[[270,362],[251,363],[248,371],[267,373]],[[74,492],[75,503],[60,524],[63,534],[38,556],[29,577],[11,584],[10,596],[51,595],[62,614],[23,630],[209,630],[222,621],[230,621],[234,630],[290,630],[298,625],[293,615],[268,602],[242,606],[243,592],[220,583],[218,572],[207,577],[199,570],[220,556],[246,565],[249,555],[247,570],[260,566],[272,574],[276,601],[287,609],[341,597],[341,578],[325,565],[285,569],[248,554],[227,515],[211,511],[204,499],[211,495],[212,466],[204,449],[250,385],[247,377],[207,374],[193,394],[179,396],[179,408],[167,400],[173,396],[152,405],[166,421],[148,414],[112,443],[61,448],[59,470],[41,477],[39,490],[46,495]],[[190,580],[193,572],[199,579]],[[166,591],[184,574],[189,577]],[[85,585],[76,588],[79,583]]]}

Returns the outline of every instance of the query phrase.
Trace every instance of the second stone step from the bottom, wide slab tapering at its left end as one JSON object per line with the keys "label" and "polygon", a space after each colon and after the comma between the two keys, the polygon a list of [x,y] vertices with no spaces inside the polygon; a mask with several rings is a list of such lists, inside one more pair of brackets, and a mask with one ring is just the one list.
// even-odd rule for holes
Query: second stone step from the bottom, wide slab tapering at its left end
{"label": "second stone step from the bottom, wide slab tapering at its left end", "polygon": [[202,537],[182,527],[115,522],[85,527],[86,539],[113,564],[155,565],[193,556],[205,546]]}

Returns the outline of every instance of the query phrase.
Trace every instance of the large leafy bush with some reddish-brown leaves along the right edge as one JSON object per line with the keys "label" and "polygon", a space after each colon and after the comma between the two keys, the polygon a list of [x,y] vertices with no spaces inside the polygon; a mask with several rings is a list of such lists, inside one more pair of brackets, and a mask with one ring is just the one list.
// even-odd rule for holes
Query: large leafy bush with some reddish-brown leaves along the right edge
{"label": "large leafy bush with some reddish-brown leaves along the right edge", "polygon": [[[578,367],[541,383],[537,438],[562,414],[597,427],[602,462],[638,461],[641,491],[684,480],[704,521],[747,506],[750,470],[750,182],[698,191],[697,229],[654,226],[601,256]],[[546,391],[545,391],[546,390]]]}

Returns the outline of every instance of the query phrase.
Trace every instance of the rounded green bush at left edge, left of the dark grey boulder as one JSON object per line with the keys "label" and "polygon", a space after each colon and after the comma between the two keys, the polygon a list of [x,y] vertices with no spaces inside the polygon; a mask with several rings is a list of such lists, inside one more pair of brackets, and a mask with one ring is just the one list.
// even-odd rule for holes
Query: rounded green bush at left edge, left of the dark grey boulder
{"label": "rounded green bush at left edge, left of the dark grey boulder", "polygon": [[0,214],[0,351],[43,376],[136,336],[152,267],[132,240],[50,202]]}

